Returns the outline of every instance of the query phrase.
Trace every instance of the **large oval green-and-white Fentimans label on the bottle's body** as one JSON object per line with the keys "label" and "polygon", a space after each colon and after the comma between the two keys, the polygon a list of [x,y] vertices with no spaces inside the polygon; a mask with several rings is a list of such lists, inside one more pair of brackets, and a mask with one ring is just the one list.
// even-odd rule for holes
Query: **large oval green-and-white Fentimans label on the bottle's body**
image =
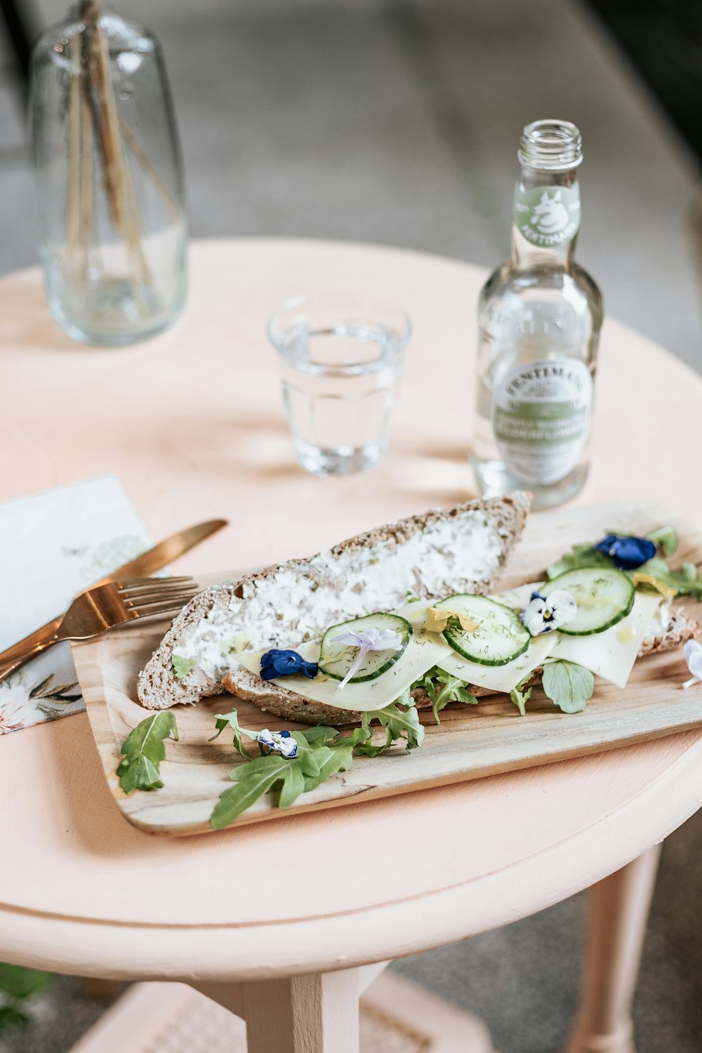
{"label": "large oval green-and-white Fentimans label on the bottle's body", "polygon": [[550,485],[578,463],[587,441],[593,377],[579,358],[543,358],[509,370],[493,402],[493,430],[507,470]]}

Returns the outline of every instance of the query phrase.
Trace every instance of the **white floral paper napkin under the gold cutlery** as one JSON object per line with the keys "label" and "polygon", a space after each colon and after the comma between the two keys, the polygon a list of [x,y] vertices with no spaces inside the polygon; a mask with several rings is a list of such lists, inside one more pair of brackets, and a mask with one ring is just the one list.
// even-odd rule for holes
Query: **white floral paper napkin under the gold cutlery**
{"label": "white floral paper napkin under the gold cutlery", "polygon": [[[0,651],[152,543],[115,475],[0,503]],[[69,643],[0,680],[0,735],[82,709]]]}

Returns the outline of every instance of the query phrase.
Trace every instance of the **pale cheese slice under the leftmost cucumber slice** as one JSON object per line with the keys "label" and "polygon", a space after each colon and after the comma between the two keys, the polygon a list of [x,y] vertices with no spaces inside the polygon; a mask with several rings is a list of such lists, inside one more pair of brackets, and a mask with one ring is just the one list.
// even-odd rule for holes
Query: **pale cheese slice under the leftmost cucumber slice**
{"label": "pale cheese slice under the leftmost cucumber slice", "polygon": [[[319,642],[303,643],[295,650],[308,661],[317,661],[319,658]],[[367,710],[383,710],[397,701],[403,691],[436,665],[449,650],[445,643],[436,641],[435,634],[415,630],[395,665],[375,680],[347,683],[340,688],[339,680],[320,672],[312,680],[305,676],[283,676],[270,682],[339,710],[359,710],[363,713]],[[237,655],[237,661],[252,673],[260,674],[262,654],[263,651],[246,651]]]}

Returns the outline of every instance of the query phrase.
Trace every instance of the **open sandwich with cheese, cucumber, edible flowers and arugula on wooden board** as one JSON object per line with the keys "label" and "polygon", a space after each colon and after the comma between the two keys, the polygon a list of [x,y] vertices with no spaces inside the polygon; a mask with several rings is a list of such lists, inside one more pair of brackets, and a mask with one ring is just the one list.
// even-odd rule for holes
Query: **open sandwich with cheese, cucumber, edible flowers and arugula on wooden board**
{"label": "open sandwich with cheese, cucumber, edible flowers and arugula on wooden board", "polygon": [[[237,784],[222,794],[215,828],[269,790],[285,808],[353,757],[394,742],[415,749],[423,709],[438,721],[447,704],[504,693],[524,715],[540,681],[557,707],[577,713],[595,676],[624,688],[638,657],[681,645],[696,649],[689,682],[702,680],[702,648],[693,642],[700,627],[673,605],[678,596],[702,598],[702,579],[693,563],[674,571],[666,562],[673,531],[606,534],[577,544],[540,580],[495,593],[527,511],[522,493],[435,510],[190,601],[139,675],[142,704],[169,710],[226,691],[313,726],[246,731],[236,709],[217,716],[218,732],[233,731],[249,762],[230,773]],[[172,713],[158,718],[157,735],[177,733]],[[350,734],[338,730],[347,724],[357,726]],[[157,769],[138,768],[141,728],[122,748],[127,792],[161,784]]]}

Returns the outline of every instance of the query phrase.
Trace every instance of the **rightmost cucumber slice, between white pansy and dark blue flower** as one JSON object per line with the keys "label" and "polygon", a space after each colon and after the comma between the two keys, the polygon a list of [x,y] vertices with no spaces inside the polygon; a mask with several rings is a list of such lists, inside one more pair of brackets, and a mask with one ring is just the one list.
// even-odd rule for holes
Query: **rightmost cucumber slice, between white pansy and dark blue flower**
{"label": "rightmost cucumber slice, between white pansy and dark blue flower", "polygon": [[603,633],[625,618],[634,607],[634,584],[614,568],[582,567],[551,578],[541,588],[548,596],[556,589],[565,589],[578,604],[578,613],[558,630],[564,636],[593,636]]}

